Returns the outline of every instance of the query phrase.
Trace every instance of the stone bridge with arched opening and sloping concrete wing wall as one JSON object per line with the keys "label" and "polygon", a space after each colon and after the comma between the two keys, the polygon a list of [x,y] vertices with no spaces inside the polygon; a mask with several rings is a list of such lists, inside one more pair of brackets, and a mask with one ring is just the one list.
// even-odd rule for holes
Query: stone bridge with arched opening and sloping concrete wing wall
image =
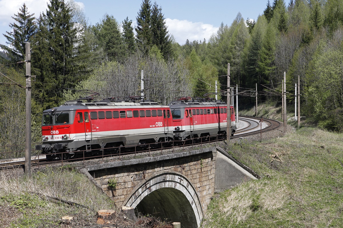
{"label": "stone bridge with arched opening and sloping concrete wing wall", "polygon": [[91,165],[81,172],[117,207],[133,207],[181,227],[200,226],[215,192],[258,177],[219,147]]}

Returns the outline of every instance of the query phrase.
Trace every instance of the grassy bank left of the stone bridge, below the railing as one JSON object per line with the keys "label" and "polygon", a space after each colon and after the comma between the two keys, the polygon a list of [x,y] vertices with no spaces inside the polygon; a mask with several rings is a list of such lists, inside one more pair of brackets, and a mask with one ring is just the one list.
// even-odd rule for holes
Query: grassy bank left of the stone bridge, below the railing
{"label": "grassy bank left of the stone bridge, below the railing", "polygon": [[[15,172],[0,175],[0,227],[61,227],[62,216],[91,221],[98,210],[114,209],[106,195],[84,175],[70,169],[47,169],[33,173],[32,177]],[[87,207],[52,203],[45,196]]]}

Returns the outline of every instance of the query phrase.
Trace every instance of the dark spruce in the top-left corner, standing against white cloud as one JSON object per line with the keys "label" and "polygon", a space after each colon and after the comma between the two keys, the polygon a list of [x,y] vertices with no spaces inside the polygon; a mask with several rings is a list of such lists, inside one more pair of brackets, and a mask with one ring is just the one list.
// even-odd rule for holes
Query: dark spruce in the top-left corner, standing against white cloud
{"label": "dark spruce in the top-left corner, standing against white cloud", "polygon": [[0,44],[0,47],[7,52],[12,62],[24,60],[25,58],[25,42],[31,42],[37,30],[33,15],[34,13],[30,14],[28,12],[24,3],[19,9],[18,14],[14,14],[15,17],[12,17],[16,23],[9,24],[13,31],[6,31],[7,35],[3,34],[7,39],[6,43],[12,48],[3,44]]}

